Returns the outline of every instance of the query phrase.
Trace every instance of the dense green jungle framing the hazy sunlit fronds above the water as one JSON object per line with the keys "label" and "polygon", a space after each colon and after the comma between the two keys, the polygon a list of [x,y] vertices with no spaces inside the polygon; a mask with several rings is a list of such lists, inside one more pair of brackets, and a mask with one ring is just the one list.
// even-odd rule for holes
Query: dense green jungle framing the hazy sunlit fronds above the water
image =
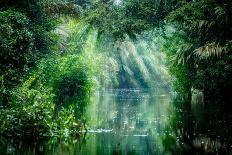
{"label": "dense green jungle framing the hazy sunlit fronds above the water", "polygon": [[107,81],[101,72],[109,53],[99,44],[111,48],[147,33],[167,56],[173,91],[231,107],[231,18],[231,0],[0,0],[0,134],[79,135],[92,90]]}

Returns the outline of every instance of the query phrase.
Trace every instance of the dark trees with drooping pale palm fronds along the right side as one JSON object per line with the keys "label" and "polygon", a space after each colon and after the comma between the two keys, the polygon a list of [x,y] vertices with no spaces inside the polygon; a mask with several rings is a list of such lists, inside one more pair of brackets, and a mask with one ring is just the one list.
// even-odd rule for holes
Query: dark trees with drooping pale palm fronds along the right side
{"label": "dark trees with drooping pale palm fronds along the right side", "polygon": [[[228,90],[231,80],[231,1],[199,0],[184,2],[169,14],[167,20],[176,31],[183,30],[187,37],[174,53],[179,67],[175,73],[184,77],[181,83],[190,80],[186,88],[204,92],[205,102],[231,102]],[[174,73],[174,75],[175,75]]]}

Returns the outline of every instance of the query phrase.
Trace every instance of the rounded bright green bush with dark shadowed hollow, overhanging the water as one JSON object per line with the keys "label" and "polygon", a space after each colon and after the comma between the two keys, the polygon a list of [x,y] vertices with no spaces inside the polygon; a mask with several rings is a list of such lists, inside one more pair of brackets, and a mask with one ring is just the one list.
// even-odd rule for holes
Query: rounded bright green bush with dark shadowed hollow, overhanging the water
{"label": "rounded bright green bush with dark shadowed hollow, overhanging the water", "polygon": [[42,61],[35,72],[35,86],[51,87],[57,104],[71,104],[88,98],[92,88],[92,71],[80,55],[51,58]]}

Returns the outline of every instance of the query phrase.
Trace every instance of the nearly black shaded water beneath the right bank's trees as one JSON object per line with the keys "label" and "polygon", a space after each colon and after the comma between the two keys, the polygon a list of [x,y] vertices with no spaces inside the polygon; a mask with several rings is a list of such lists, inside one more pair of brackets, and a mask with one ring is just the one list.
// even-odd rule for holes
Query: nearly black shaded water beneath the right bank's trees
{"label": "nearly black shaded water beneath the right bank's trees", "polygon": [[[231,154],[232,114],[223,105],[173,101],[172,130],[176,135],[173,154]],[[169,146],[166,146],[168,148]]]}

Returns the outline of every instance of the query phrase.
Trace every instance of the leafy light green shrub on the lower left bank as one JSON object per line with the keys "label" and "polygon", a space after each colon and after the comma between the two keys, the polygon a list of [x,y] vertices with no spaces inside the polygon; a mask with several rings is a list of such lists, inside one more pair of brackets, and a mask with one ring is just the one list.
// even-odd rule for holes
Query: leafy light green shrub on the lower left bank
{"label": "leafy light green shrub on the lower left bank", "polygon": [[52,95],[46,89],[38,91],[22,87],[15,92],[13,104],[7,109],[1,109],[1,135],[46,136],[47,124],[52,122],[54,110]]}

